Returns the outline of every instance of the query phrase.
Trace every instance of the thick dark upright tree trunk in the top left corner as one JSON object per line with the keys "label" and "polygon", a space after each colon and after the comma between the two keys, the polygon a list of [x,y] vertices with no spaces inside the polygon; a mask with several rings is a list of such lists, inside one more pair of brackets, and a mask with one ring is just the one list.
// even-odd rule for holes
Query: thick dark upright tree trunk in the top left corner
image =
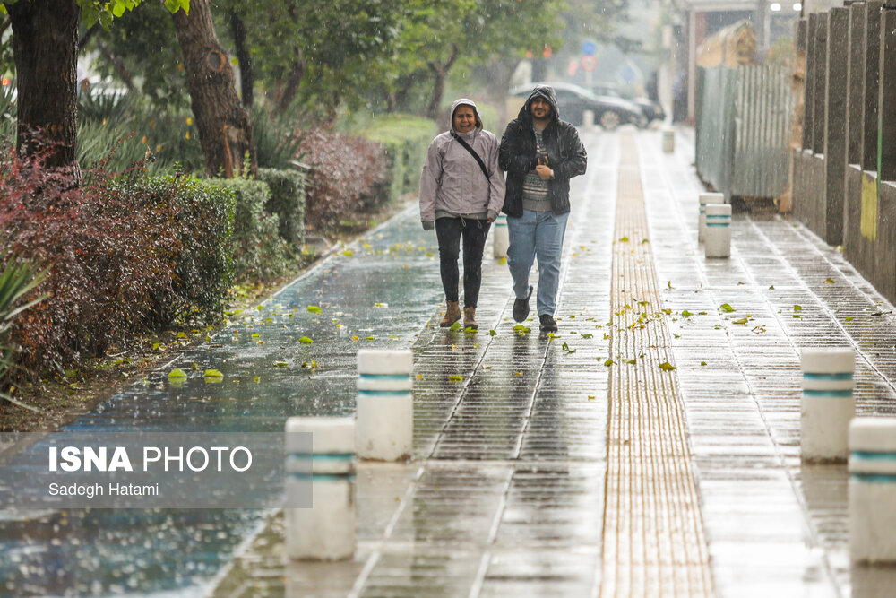
{"label": "thick dark upright tree trunk in the top left corner", "polygon": [[33,153],[53,143],[47,166],[75,163],[78,118],[78,20],[74,0],[7,4],[13,25],[18,90],[16,148]]}

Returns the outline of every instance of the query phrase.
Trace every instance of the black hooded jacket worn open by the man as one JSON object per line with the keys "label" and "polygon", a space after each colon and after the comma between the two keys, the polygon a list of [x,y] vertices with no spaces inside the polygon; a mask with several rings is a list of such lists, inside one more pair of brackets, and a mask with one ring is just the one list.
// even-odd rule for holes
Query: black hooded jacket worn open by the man
{"label": "black hooded jacket worn open by the man", "polygon": [[544,98],[551,105],[551,122],[542,133],[547,150],[547,165],[554,170],[549,181],[548,196],[551,211],[555,214],[569,212],[569,179],[585,173],[587,155],[575,127],[560,120],[554,89],[539,85],[533,90],[501,137],[498,164],[507,171],[507,191],[504,195],[504,213],[522,216],[522,181],[536,167],[535,133],[532,132],[530,104],[535,98]]}

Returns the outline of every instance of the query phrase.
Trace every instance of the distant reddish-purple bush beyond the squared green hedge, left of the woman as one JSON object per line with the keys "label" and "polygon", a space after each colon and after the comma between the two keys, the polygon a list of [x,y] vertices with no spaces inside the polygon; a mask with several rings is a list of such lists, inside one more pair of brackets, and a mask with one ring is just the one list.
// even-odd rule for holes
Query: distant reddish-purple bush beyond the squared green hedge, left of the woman
{"label": "distant reddish-purple bush beyond the squared green hedge, left of the woman", "polygon": [[306,225],[332,233],[340,221],[388,197],[389,168],[379,143],[324,130],[304,133],[300,151],[311,165],[306,187]]}

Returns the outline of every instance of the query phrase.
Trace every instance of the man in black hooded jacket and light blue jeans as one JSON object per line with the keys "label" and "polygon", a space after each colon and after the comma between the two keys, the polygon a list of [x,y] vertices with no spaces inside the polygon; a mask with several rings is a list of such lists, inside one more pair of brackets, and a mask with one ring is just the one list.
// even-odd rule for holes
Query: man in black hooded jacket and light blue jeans
{"label": "man in black hooded jacket and light blue jeans", "polygon": [[529,316],[529,273],[538,256],[538,319],[556,332],[560,258],[569,217],[569,179],[584,174],[587,156],[575,127],[560,120],[554,89],[539,85],[501,138],[498,163],[507,171],[504,213],[513,276],[513,319]]}

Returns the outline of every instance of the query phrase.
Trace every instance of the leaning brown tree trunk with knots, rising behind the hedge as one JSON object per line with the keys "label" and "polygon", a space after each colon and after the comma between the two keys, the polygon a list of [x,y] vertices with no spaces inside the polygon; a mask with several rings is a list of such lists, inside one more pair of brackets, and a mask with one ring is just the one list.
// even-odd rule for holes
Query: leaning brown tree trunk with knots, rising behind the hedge
{"label": "leaning brown tree trunk with knots, rising behind the hedge", "polygon": [[192,0],[190,14],[171,15],[177,41],[184,53],[190,103],[210,177],[230,178],[243,170],[249,155],[250,172],[258,172],[252,123],[239,101],[230,59],[221,47],[211,22],[208,0]]}

